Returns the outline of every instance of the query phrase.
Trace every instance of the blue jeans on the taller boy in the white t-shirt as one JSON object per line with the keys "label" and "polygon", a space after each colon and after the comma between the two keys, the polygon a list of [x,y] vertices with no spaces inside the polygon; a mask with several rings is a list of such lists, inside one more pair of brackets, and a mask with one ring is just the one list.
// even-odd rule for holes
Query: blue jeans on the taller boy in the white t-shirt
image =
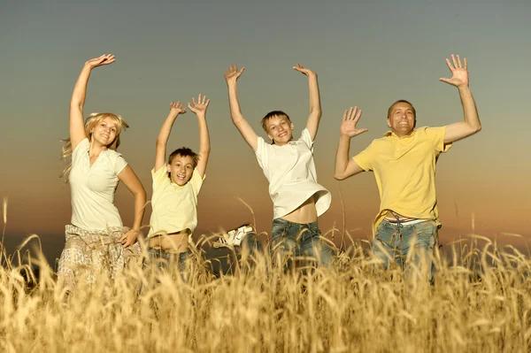
{"label": "blue jeans on the taller boy in the white t-shirt", "polygon": [[[330,267],[335,251],[320,238],[318,222],[295,223],[286,219],[273,219],[273,230],[269,248],[273,265],[277,257],[313,257],[320,265]],[[289,261],[291,267],[291,261]]]}

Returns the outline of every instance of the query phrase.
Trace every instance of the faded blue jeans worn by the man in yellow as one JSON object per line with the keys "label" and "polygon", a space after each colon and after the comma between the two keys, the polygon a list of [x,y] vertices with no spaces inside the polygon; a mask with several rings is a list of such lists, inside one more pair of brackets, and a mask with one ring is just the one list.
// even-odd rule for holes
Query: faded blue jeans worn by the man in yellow
{"label": "faded blue jeans worn by the man in yellow", "polygon": [[[377,243],[381,245],[377,246]],[[380,257],[384,268],[389,266],[389,257],[396,265],[404,269],[410,250],[415,249],[412,262],[415,265],[427,265],[428,279],[433,280],[435,265],[432,257],[439,243],[435,220],[426,220],[408,226],[407,223],[381,221],[373,240],[374,256]],[[388,257],[389,255],[389,257]]]}

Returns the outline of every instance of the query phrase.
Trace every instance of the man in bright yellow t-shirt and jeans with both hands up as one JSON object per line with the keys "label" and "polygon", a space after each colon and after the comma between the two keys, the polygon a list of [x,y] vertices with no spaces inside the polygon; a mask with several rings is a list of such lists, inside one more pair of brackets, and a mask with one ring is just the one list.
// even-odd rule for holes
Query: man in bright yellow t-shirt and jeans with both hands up
{"label": "man in bright yellow t-shirt and jeans with both hands up", "polygon": [[[373,171],[380,192],[380,212],[373,223],[374,255],[387,268],[389,259],[403,266],[412,259],[432,280],[432,257],[437,247],[437,229],[441,226],[435,195],[435,163],[451,143],[481,130],[472,93],[468,87],[466,59],[451,56],[446,63],[451,79],[440,79],[458,88],[464,121],[446,127],[419,127],[416,111],[407,101],[389,107],[387,124],[391,131],[366,150],[349,159],[350,138],[365,133],[356,124],[358,107],[345,111],[341,137],[335,156],[335,179],[344,180],[363,171]],[[410,251],[415,249],[415,251]]]}

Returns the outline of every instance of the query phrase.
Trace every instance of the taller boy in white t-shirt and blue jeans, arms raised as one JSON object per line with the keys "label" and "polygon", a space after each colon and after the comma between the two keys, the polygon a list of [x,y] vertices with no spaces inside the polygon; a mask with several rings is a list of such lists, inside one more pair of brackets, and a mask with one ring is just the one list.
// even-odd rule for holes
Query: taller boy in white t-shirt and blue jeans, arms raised
{"label": "taller boy in white t-shirt and blue jeans, arms raised", "polygon": [[300,139],[293,141],[293,124],[283,111],[271,111],[262,119],[262,127],[272,143],[258,137],[240,109],[236,81],[245,68],[238,71],[236,65],[224,73],[230,111],[235,126],[255,151],[258,164],[269,181],[269,195],[273,201],[270,242],[273,263],[286,255],[295,255],[314,257],[322,265],[329,266],[334,250],[320,238],[317,219],[327,211],[331,196],[317,182],[313,161],[313,141],[321,116],[319,85],[317,74],[312,70],[298,64],[293,68],[308,76],[310,87],[310,116]]}

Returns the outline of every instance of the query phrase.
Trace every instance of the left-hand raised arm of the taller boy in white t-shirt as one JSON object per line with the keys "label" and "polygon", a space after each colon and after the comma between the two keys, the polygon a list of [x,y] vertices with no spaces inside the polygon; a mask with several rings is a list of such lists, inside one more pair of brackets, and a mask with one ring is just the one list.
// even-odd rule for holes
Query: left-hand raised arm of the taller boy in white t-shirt
{"label": "left-hand raised arm of the taller boy in white t-shirt", "polygon": [[258,135],[250,127],[249,122],[243,118],[242,110],[240,109],[240,102],[238,101],[238,90],[236,88],[236,81],[242,76],[245,67],[238,71],[238,66],[232,65],[228,67],[227,73],[223,73],[225,81],[227,81],[228,88],[228,104],[230,105],[230,115],[233,123],[242,134],[243,139],[250,145],[252,150],[258,150]]}

